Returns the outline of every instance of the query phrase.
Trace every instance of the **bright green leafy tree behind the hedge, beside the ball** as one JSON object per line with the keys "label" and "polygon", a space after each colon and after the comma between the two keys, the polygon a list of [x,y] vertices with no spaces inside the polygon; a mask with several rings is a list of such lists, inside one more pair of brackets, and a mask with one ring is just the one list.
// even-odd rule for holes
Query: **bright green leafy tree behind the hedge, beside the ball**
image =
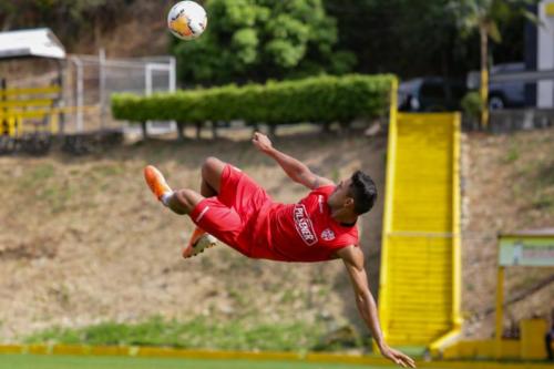
{"label": "bright green leafy tree behind the hedge, beside the ball", "polygon": [[219,84],[350,71],[353,54],[335,49],[337,27],[321,0],[208,0],[206,32],[174,39],[179,78]]}

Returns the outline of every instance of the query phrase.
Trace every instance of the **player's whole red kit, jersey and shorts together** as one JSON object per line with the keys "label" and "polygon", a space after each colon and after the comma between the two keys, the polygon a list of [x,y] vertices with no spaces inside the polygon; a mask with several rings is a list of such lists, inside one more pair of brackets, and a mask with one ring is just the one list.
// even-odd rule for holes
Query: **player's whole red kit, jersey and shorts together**
{"label": "player's whole red kit, jersey and shorts together", "polygon": [[327,199],[334,189],[322,186],[297,204],[279,204],[240,170],[226,165],[219,194],[199,202],[191,218],[248,257],[329,260],[338,249],[358,245],[356,225],[345,226],[331,217]]}

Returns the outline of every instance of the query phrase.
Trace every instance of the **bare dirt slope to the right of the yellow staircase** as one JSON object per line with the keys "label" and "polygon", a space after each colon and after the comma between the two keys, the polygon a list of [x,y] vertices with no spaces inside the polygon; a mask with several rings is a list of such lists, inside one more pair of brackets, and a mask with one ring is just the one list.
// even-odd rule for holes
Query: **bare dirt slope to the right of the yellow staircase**
{"label": "bare dirt slope to the right of the yellow staircase", "polygon": [[[488,338],[494,330],[496,235],[554,227],[554,127],[513,135],[474,133],[465,144],[463,310],[465,332]],[[506,330],[522,318],[548,318],[554,309],[554,268],[506,271]],[[515,332],[516,334],[516,332]]]}

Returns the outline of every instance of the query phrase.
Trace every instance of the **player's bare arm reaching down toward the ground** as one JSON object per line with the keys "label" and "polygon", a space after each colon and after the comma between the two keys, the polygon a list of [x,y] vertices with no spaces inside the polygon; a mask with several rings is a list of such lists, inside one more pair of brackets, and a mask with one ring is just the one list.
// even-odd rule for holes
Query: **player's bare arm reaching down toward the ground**
{"label": "player's bare arm reaching down toward the ground", "polygon": [[345,262],[345,266],[352,283],[356,305],[366,325],[371,330],[373,339],[387,359],[404,368],[416,368],[416,362],[409,356],[389,347],[382,337],[381,326],[377,314],[377,305],[369,290],[368,276],[363,266],[363,253],[359,247],[348,246],[340,249],[338,256]]}

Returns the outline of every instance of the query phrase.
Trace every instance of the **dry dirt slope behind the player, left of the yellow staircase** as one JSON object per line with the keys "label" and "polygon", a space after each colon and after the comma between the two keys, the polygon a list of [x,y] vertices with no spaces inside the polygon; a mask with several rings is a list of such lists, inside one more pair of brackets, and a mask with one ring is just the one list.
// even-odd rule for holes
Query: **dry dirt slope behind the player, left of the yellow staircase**
{"label": "dry dirt slope behind the player, left of the yellow staircase", "polygon": [[[383,191],[384,137],[307,133],[275,144],[332,180],[362,168]],[[340,262],[258,262],[226,246],[181,259],[192,223],[154,201],[142,168],[153,163],[174,187],[198,188],[198,168],[208,155],[242,167],[277,201],[296,202],[307,193],[247,140],[151,141],[76,158],[0,157],[0,340],[53,325],[155,315],[182,320],[246,315],[253,325],[319,317],[329,329],[349,319],[358,325]],[[382,196],[362,222],[372,280],[381,212]]]}

